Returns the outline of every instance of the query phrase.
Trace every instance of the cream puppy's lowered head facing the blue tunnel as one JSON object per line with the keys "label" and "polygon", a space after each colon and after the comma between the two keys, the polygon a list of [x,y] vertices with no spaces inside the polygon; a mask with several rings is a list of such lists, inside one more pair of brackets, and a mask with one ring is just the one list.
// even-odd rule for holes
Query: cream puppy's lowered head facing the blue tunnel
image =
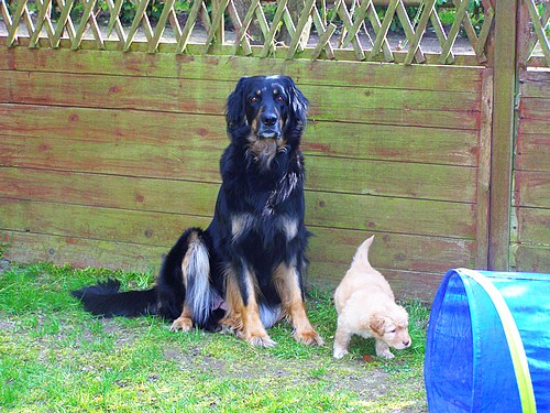
{"label": "cream puppy's lowered head facing the blue tunnel", "polygon": [[374,313],[370,319],[370,327],[374,337],[397,350],[410,346],[408,324],[407,311],[397,304]]}

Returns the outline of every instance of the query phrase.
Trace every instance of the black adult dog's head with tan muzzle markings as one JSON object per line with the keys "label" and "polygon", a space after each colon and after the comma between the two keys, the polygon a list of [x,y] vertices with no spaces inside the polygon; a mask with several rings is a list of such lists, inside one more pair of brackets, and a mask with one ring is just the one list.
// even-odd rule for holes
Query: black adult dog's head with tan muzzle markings
{"label": "black adult dog's head with tan muzzle markings", "polygon": [[242,77],[228,98],[228,132],[255,156],[272,157],[299,144],[307,108],[308,100],[287,76]]}

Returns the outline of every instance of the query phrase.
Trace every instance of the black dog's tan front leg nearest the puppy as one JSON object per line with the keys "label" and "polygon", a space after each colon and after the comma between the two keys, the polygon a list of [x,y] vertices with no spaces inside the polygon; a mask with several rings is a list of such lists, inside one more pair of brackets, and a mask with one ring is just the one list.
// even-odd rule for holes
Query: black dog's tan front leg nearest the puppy
{"label": "black dog's tan front leg nearest the puppy", "polygon": [[298,272],[294,265],[280,264],[274,274],[283,312],[294,327],[293,336],[298,343],[322,346],[324,341],[317,334],[306,314]]}

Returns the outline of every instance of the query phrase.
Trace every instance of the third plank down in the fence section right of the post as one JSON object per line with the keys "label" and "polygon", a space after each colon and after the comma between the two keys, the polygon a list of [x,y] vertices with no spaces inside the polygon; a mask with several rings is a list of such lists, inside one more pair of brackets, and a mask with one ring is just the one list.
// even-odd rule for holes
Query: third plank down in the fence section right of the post
{"label": "third plank down in the fence section right of the post", "polygon": [[550,173],[550,131],[548,134],[518,134],[515,169]]}

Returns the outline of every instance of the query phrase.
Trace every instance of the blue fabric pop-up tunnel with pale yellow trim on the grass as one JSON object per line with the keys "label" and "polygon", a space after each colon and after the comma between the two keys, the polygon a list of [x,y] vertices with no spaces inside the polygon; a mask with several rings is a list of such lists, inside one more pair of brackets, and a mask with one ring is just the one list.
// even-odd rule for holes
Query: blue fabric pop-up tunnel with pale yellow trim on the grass
{"label": "blue fabric pop-up tunnel with pale yellow trim on the grass", "polygon": [[550,412],[550,274],[449,271],[425,382],[433,413]]}

